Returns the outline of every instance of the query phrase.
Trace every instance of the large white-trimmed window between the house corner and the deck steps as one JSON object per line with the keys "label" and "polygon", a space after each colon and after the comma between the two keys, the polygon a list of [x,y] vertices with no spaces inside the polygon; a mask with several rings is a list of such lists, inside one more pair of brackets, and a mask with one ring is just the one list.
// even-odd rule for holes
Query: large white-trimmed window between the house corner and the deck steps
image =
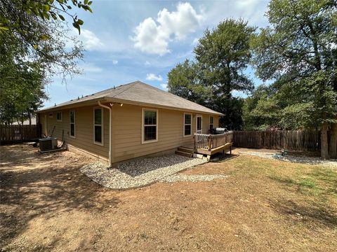
{"label": "large white-trimmed window between the house corner and the deck steps", "polygon": [[158,111],[143,109],[142,144],[158,141]]}

